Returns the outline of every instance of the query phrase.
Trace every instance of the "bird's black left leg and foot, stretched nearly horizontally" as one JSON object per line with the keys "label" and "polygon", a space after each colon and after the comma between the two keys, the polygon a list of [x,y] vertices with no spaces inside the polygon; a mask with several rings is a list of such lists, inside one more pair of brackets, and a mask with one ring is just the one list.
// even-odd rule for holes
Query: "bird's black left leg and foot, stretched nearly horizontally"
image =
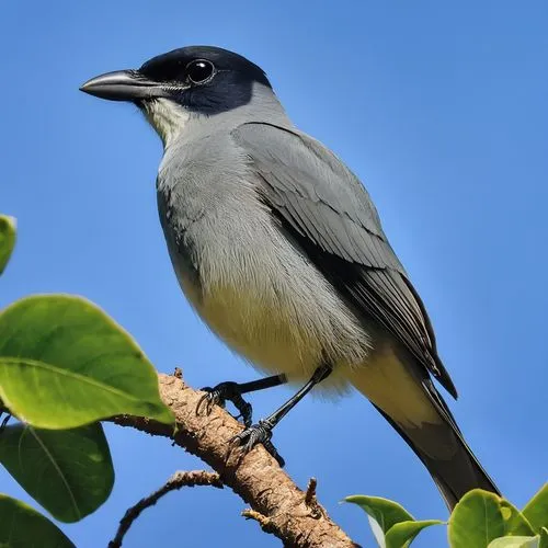
{"label": "bird's black left leg and foot, stretched nearly horizontally", "polygon": [[231,401],[236,409],[240,412],[236,419],[242,418],[246,426],[251,426],[251,415],[253,408],[247,402],[241,395],[273,388],[287,383],[285,375],[274,375],[272,377],[250,380],[249,383],[220,383],[215,387],[206,386],[202,388],[205,393],[198,401],[196,413],[199,413],[205,406],[206,413],[210,413],[213,406],[225,407],[226,401]]}

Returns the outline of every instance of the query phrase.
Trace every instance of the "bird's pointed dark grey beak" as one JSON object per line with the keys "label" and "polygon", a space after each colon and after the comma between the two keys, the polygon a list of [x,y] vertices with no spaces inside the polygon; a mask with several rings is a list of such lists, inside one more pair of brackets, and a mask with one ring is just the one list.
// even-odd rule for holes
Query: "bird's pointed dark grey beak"
{"label": "bird's pointed dark grey beak", "polygon": [[160,83],[148,80],[138,70],[106,72],[88,80],[80,91],[111,101],[139,101],[168,96]]}

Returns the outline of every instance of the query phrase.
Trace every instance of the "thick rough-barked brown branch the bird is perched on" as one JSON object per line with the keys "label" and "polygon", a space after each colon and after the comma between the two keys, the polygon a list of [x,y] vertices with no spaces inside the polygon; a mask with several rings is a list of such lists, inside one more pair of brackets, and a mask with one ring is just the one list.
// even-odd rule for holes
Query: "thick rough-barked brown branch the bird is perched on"
{"label": "thick rough-barked brown branch the bird is perched on", "polygon": [[176,377],[163,374],[158,377],[160,396],[176,419],[175,431],[170,425],[130,415],[116,416],[113,422],[171,437],[207,463],[224,484],[251,505],[252,511],[244,515],[258,520],[285,547],[357,547],[316,501],[316,486],[307,495],[261,445],[246,456],[238,449],[229,453],[229,441],[241,432],[242,425],[216,406],[209,415],[197,414],[203,392],[185,385],[180,372]]}

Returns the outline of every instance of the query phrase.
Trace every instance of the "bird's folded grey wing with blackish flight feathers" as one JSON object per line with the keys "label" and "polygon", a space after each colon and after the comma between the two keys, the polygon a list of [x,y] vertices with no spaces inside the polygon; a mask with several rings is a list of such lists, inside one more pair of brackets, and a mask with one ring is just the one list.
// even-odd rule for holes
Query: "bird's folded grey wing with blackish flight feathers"
{"label": "bird's folded grey wing with blackish flight feathers", "polygon": [[295,129],[248,123],[232,137],[283,229],[345,298],[390,331],[456,398],[424,306],[357,178],[320,142]]}

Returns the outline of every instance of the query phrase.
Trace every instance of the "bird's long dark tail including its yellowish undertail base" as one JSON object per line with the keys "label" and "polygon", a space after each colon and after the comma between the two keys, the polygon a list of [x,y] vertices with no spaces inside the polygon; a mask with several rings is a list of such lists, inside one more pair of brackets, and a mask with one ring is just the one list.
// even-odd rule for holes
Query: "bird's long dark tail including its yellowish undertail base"
{"label": "bird's long dark tail including its yellowish undertail base", "polygon": [[500,494],[430,378],[418,378],[388,353],[354,372],[351,380],[422,460],[449,510],[471,489]]}

